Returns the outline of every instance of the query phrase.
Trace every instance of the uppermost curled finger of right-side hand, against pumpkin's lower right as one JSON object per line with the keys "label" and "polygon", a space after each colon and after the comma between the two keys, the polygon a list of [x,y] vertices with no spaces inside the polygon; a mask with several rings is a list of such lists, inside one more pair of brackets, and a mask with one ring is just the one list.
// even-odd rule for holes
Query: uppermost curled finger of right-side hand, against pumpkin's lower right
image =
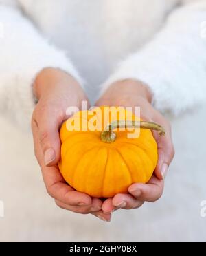
{"label": "uppermost curled finger of right-side hand, against pumpkin's lower right", "polygon": [[155,202],[163,194],[164,182],[153,176],[148,184],[133,184],[128,192],[140,201]]}

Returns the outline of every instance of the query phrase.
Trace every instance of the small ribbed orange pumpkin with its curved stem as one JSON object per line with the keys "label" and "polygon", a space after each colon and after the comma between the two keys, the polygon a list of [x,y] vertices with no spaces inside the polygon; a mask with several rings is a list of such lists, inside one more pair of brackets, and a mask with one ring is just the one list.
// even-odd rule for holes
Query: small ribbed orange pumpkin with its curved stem
{"label": "small ribbed orange pumpkin with its curved stem", "polygon": [[[127,193],[133,183],[147,183],[157,166],[157,142],[151,129],[163,135],[163,128],[117,109],[80,111],[60,129],[60,172],[76,191],[94,198],[111,198]],[[131,128],[140,132],[137,138],[128,138]]]}

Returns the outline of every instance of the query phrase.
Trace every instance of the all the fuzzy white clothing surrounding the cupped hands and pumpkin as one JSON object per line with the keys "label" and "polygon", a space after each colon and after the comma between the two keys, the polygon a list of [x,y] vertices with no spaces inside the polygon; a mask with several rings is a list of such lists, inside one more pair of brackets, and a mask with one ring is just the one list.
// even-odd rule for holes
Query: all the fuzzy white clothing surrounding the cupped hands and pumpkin
{"label": "all the fuzzy white clothing surrounding the cupped hands and pumpkin", "polygon": [[195,107],[205,96],[202,21],[205,0],[0,0],[2,116],[29,123],[32,81],[44,67],[80,79],[78,70],[92,100],[108,76],[141,79],[156,107],[179,114],[165,195],[139,210],[117,211],[111,224],[58,209],[45,191],[31,134],[1,117],[1,242],[205,242],[206,105]]}

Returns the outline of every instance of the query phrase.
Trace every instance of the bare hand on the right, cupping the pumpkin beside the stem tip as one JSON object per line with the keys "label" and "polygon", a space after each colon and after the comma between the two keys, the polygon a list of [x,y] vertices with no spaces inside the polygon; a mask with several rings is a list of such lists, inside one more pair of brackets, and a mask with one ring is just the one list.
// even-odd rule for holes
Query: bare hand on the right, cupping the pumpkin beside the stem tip
{"label": "bare hand on the right, cupping the pumpkin beside the stem tip", "polygon": [[163,194],[164,179],[174,158],[174,147],[170,123],[152,107],[151,98],[146,85],[138,81],[126,80],[111,85],[96,103],[97,106],[140,107],[142,119],[157,122],[166,131],[165,136],[159,136],[156,132],[153,133],[158,145],[159,161],[148,184],[132,184],[128,188],[128,193],[117,194],[114,198],[107,199],[102,204],[104,213],[112,213],[117,209],[137,209],[144,202],[159,200]]}

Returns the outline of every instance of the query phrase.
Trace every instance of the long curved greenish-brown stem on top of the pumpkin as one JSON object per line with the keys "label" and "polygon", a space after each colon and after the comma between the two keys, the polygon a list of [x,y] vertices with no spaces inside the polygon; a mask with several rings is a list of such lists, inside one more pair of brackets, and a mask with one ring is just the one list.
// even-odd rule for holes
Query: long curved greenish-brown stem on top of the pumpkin
{"label": "long curved greenish-brown stem on top of the pumpkin", "polygon": [[120,128],[141,128],[158,131],[160,136],[165,136],[165,129],[155,122],[144,122],[144,121],[115,121],[111,122],[110,125],[104,129],[101,133],[101,140],[105,143],[113,143],[117,138],[117,134],[113,130]]}

